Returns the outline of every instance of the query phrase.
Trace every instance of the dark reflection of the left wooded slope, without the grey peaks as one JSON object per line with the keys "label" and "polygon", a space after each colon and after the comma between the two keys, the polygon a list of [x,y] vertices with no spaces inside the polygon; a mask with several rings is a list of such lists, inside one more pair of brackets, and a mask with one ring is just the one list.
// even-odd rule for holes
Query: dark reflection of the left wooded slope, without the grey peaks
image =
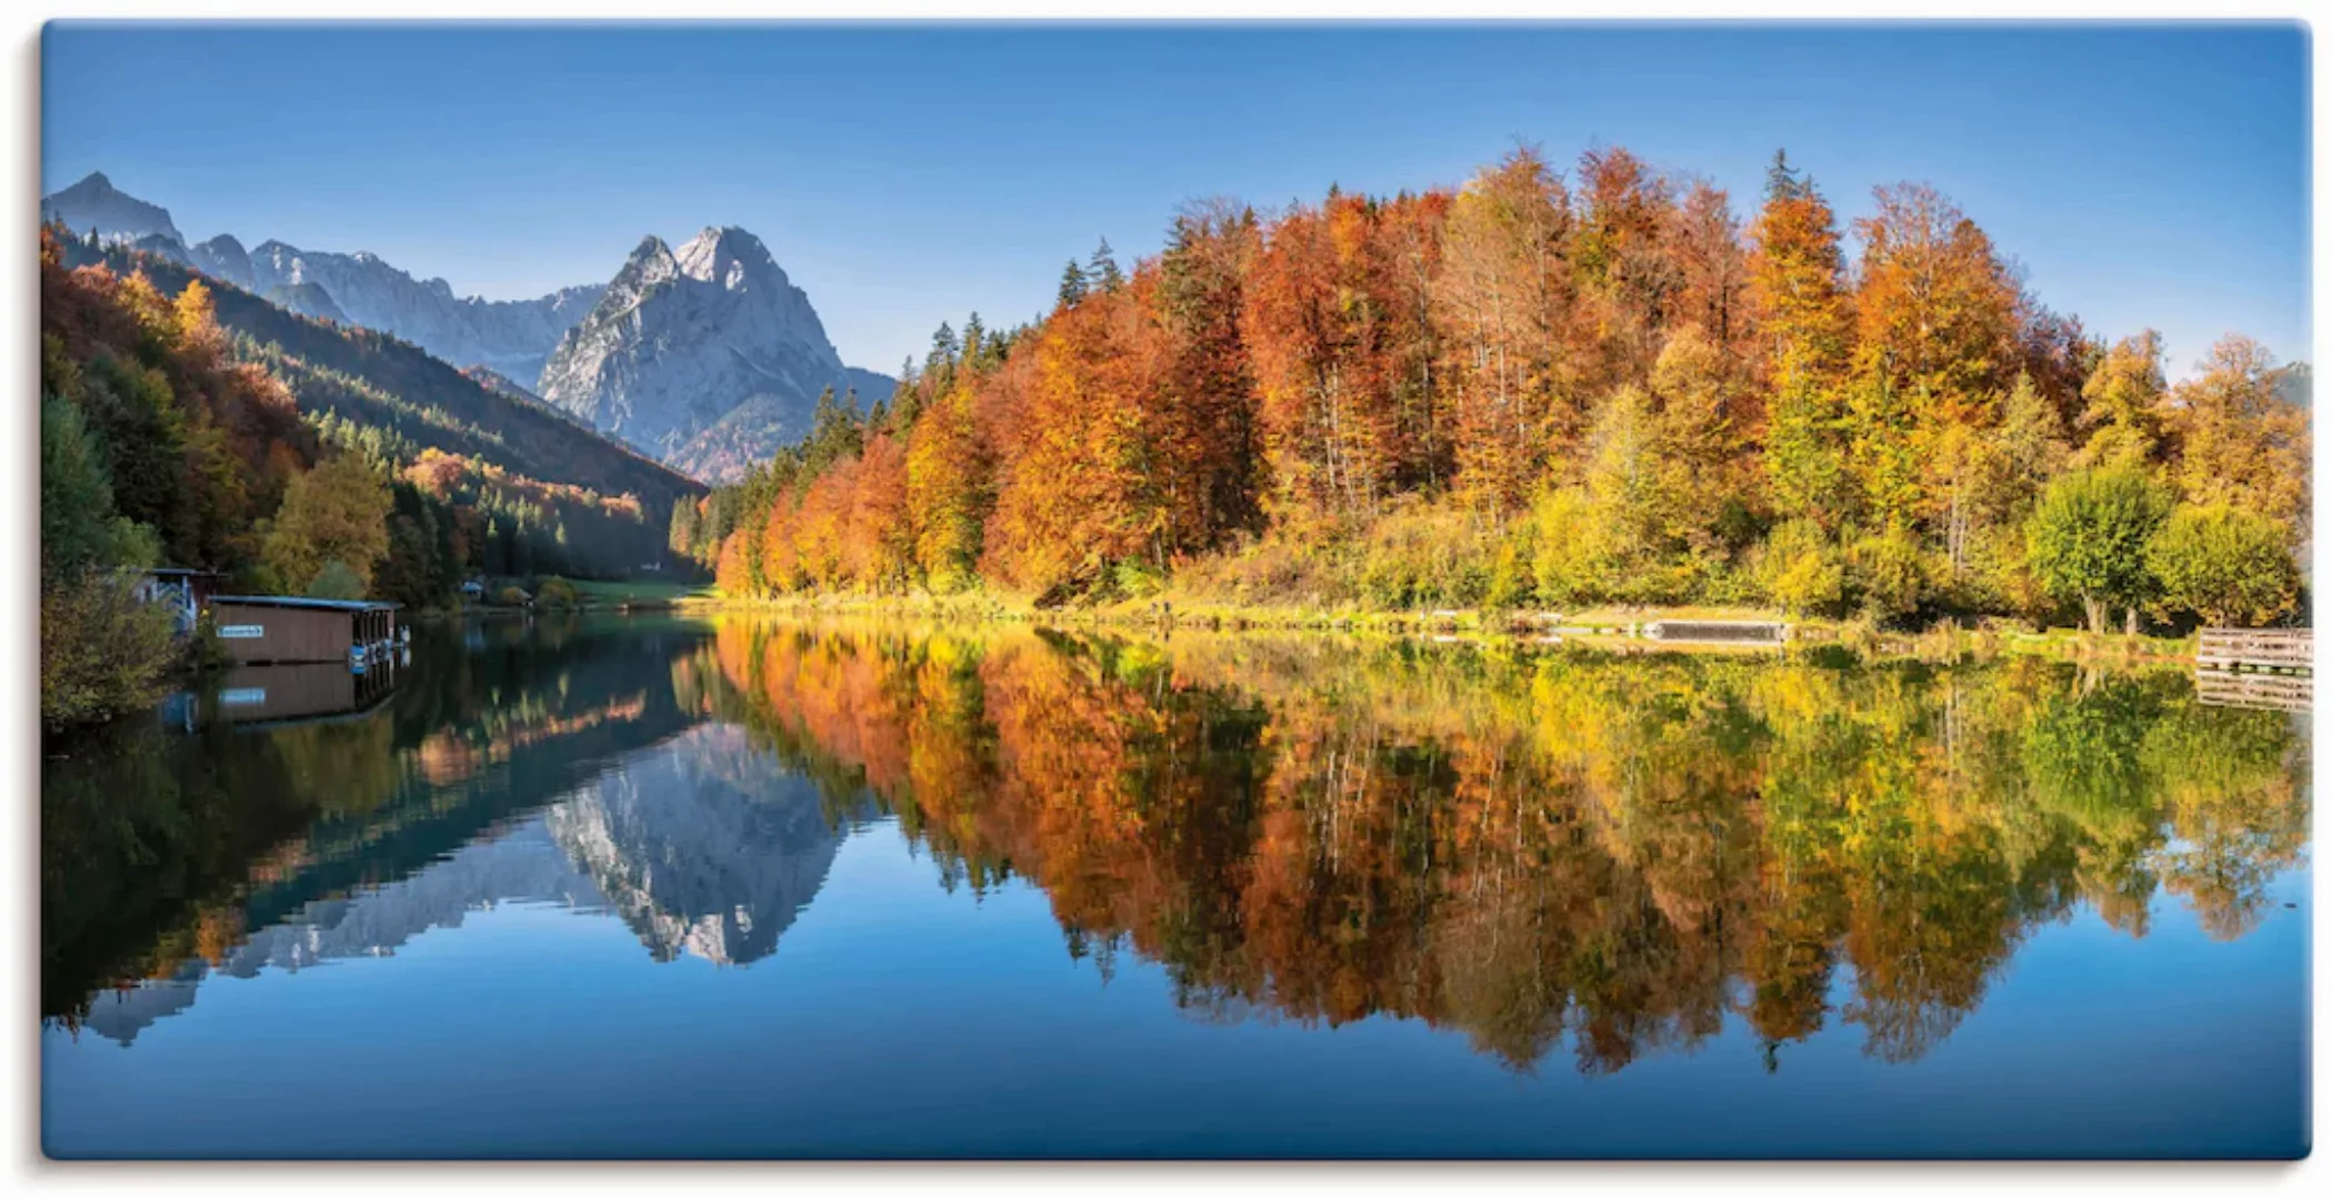
{"label": "dark reflection of the left wooded slope, without the grey peaks", "polygon": [[[641,622],[473,636],[469,647],[417,643],[417,668],[359,712],[266,726],[222,715],[194,733],[166,717],[65,745],[42,771],[42,1010],[133,1031],[142,1020],[128,1013],[182,1008],[184,985],[231,959],[301,964],[296,950],[238,957],[247,941],[312,943],[312,957],[394,948],[434,920],[371,943],[354,934],[364,922],[347,938],[329,929],[352,908],[396,924],[380,913],[420,901],[413,887],[459,889],[422,875],[697,722],[669,673],[700,631]],[[194,708],[233,705],[210,694]],[[408,887],[382,899],[394,885]],[[138,980],[175,980],[163,989],[182,994],[100,994]]]}

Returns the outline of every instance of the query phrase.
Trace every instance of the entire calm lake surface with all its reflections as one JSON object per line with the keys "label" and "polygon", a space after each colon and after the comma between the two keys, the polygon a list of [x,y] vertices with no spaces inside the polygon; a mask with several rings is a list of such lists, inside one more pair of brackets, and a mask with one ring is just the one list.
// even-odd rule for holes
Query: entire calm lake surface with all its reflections
{"label": "entire calm lake surface with all its reflections", "polygon": [[2306,1152],[2306,722],[2176,673],[424,631],[51,759],[58,1157]]}

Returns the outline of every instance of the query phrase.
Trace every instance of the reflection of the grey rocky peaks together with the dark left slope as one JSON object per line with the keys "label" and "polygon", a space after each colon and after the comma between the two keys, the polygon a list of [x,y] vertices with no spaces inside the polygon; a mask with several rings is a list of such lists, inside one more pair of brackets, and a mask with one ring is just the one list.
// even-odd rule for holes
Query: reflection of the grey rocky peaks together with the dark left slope
{"label": "reflection of the grey rocky peaks together with the dark left slope", "polygon": [[[693,724],[681,696],[702,703],[686,687],[700,633],[667,633],[644,647],[658,687],[627,638],[553,638],[515,661],[448,657],[436,666],[457,694],[396,710],[254,731],[231,729],[233,703],[198,696],[219,715],[196,738],[140,724],[82,745],[44,787],[44,950],[51,980],[72,980],[49,1013],[131,1043],[212,973],[382,957],[506,901],[611,910],[658,962],[767,957],[842,826],[742,729]],[[466,703],[473,689],[494,705]],[[100,813],[107,799],[131,810]],[[208,820],[189,829],[173,806]],[[98,815],[119,824],[91,826]],[[103,845],[105,873],[72,857],[98,847],[68,833],[100,829],[121,836]],[[212,836],[236,847],[212,859]],[[145,920],[112,936],[65,927],[98,913]]]}

